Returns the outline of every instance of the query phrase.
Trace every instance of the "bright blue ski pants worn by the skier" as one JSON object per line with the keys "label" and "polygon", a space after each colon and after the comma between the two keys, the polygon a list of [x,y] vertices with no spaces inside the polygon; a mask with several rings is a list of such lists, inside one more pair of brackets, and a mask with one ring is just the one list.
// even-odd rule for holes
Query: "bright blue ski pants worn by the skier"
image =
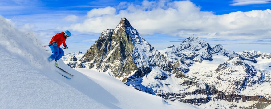
{"label": "bright blue ski pants worn by the skier", "polygon": [[51,56],[49,56],[50,60],[59,60],[64,55],[64,51],[60,47],[54,45],[49,47],[53,53]]}

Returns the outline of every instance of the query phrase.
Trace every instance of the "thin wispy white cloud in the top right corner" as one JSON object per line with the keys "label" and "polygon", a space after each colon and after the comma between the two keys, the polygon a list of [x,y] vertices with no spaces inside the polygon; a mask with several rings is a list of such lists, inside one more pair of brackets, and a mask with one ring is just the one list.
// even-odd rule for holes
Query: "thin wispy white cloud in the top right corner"
{"label": "thin wispy white cloud in the top right corner", "polygon": [[245,5],[254,5],[254,4],[267,4],[271,0],[233,0],[233,3],[230,6],[245,6]]}

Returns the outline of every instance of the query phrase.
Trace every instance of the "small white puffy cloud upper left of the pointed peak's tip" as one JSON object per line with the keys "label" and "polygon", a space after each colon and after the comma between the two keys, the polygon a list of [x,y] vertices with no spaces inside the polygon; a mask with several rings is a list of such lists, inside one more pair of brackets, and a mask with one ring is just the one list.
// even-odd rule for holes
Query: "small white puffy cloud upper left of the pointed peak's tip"
{"label": "small white puffy cloud upper left of the pointed peak's tip", "polygon": [[106,8],[98,8],[98,9],[92,9],[91,11],[87,12],[87,17],[99,17],[102,15],[113,15],[115,14],[116,9],[113,7],[106,7]]}

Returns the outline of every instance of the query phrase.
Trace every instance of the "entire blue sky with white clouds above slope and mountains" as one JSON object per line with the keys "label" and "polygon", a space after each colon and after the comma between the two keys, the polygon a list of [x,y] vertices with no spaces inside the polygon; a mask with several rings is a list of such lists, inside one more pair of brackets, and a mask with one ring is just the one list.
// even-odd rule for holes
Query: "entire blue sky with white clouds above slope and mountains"
{"label": "entire blue sky with white clouds above slope and mountains", "polygon": [[[269,24],[270,13],[267,9],[271,9],[270,1],[2,0],[0,15],[11,19],[19,29],[36,31],[44,45],[54,34],[70,30],[73,36],[67,40],[69,49],[66,53],[86,52],[100,33],[105,29],[114,29],[121,17],[126,17],[141,36],[158,50],[177,45],[195,34],[212,47],[222,44],[224,48],[237,52],[257,50],[271,53],[271,35],[268,35],[271,28],[265,25]],[[173,15],[175,19],[167,17],[168,12],[176,14]],[[138,14],[142,15],[136,16]],[[231,25],[227,25],[224,19],[234,20],[229,21]],[[199,20],[201,22],[194,23]]]}

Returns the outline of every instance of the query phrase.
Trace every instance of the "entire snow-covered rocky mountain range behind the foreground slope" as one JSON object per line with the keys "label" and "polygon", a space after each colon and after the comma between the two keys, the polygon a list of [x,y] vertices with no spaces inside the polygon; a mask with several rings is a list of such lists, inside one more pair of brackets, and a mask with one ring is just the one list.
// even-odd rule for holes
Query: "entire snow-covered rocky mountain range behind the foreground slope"
{"label": "entire snow-covered rocky mountain range behind the foreground slope", "polygon": [[224,107],[255,108],[271,102],[270,58],[270,53],[212,48],[198,37],[158,51],[122,18],[115,29],[103,31],[80,60],[69,60],[77,63],[75,68],[105,72],[171,101],[218,108],[222,100]]}

